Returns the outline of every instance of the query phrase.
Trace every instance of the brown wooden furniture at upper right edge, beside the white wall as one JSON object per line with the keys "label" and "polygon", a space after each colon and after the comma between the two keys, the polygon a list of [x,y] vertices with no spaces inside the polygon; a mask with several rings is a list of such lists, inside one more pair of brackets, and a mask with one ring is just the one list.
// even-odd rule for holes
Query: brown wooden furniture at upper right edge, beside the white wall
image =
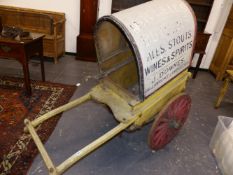
{"label": "brown wooden furniture at upper right edge, beside the white wall", "polygon": [[233,70],[233,8],[231,8],[230,15],[210,65],[210,71],[216,76],[216,80],[222,80],[226,70]]}

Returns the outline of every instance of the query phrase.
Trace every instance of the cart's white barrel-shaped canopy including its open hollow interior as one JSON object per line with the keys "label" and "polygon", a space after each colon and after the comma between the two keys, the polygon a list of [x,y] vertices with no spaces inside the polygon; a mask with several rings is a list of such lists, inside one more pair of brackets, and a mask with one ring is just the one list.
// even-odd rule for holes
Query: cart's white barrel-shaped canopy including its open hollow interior
{"label": "cart's white barrel-shaped canopy including its open hollow interior", "polygon": [[[189,6],[176,0],[151,1],[103,17],[95,30],[100,70],[123,88],[137,85],[134,94],[142,101],[190,65],[195,30]],[[133,70],[109,75],[129,62]]]}

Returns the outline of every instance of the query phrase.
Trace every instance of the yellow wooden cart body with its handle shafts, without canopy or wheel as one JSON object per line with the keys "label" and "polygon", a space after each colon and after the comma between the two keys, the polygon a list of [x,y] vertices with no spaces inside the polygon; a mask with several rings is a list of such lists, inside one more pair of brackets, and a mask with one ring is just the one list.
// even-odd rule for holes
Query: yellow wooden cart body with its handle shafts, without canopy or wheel
{"label": "yellow wooden cart body with its handle shafts, without canopy or wheel", "polygon": [[[135,101],[126,93],[123,93],[122,96],[119,96],[118,93],[116,93],[116,91],[119,91],[117,87],[114,86],[114,84],[110,84],[108,81],[104,80],[81,98],[74,100],[55,110],[52,110],[32,122],[26,119],[26,130],[30,132],[35,144],[37,145],[38,150],[46,164],[46,167],[49,170],[49,174],[62,174],[74,163],[103,145],[108,140],[112,139],[114,136],[116,136],[126,128],[130,127],[130,129],[133,130],[151,121],[151,116],[154,117],[155,114],[157,114],[172,97],[182,93],[185,90],[186,82],[190,78],[190,76],[191,74],[187,72],[187,70],[184,71],[142,103]],[[120,91],[120,93],[122,93],[122,91]],[[49,118],[56,116],[57,114],[64,111],[70,110],[74,107],[77,107],[78,105],[88,100],[96,100],[108,105],[112,109],[116,119],[123,121],[115,128],[113,128],[100,138],[96,139],[89,145],[85,146],[56,167],[49,157],[47,151],[45,150],[40,138],[36,133],[35,128]]]}

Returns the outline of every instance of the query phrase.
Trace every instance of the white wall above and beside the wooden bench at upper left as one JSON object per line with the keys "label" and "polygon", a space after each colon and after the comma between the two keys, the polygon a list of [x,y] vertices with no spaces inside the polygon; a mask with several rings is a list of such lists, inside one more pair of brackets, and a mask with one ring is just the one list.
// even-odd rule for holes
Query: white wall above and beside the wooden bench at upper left
{"label": "white wall above and beside the wooden bench at upper left", "polygon": [[80,0],[0,0],[0,5],[64,12],[66,14],[66,52],[76,52],[79,35]]}

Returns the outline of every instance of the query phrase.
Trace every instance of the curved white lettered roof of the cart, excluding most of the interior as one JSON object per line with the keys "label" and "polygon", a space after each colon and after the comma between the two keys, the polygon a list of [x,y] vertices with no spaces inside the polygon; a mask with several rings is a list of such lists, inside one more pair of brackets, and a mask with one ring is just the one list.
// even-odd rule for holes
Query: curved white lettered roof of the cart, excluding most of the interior
{"label": "curved white lettered roof of the cart, excluding most of the interior", "polygon": [[[137,65],[141,99],[189,67],[196,18],[186,1],[154,0],[104,16],[98,20],[95,35],[107,23],[114,25],[130,45]],[[102,45],[116,47],[112,43],[109,38],[96,40],[99,64],[103,62],[101,52],[106,48]]]}

